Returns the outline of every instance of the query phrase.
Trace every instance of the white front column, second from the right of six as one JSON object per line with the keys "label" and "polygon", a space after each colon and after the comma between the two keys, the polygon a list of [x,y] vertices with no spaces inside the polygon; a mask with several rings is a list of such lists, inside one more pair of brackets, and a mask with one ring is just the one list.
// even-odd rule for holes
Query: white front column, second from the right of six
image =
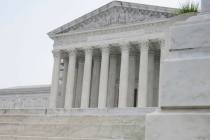
{"label": "white front column, second from the right of six", "polygon": [[120,85],[118,107],[127,106],[128,94],[128,73],[129,73],[129,46],[121,48],[121,68],[120,68]]}

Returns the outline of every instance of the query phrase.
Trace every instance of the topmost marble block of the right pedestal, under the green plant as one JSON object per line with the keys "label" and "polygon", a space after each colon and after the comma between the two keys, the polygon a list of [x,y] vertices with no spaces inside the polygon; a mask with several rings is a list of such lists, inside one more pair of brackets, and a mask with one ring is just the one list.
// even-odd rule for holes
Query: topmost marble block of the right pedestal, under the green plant
{"label": "topmost marble block of the right pedestal, under the green plant", "polygon": [[194,16],[171,28],[171,49],[210,47],[210,17],[207,14]]}

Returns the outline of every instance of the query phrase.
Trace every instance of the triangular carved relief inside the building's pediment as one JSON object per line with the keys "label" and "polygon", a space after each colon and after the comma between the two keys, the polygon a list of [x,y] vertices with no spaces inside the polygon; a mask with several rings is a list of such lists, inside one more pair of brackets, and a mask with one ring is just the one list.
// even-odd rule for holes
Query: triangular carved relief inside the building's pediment
{"label": "triangular carved relief inside the building's pediment", "polygon": [[112,7],[106,11],[98,13],[95,16],[85,19],[83,22],[73,25],[59,33],[137,23],[141,21],[168,18],[171,16],[173,16],[171,13],[166,12],[142,10],[129,7]]}

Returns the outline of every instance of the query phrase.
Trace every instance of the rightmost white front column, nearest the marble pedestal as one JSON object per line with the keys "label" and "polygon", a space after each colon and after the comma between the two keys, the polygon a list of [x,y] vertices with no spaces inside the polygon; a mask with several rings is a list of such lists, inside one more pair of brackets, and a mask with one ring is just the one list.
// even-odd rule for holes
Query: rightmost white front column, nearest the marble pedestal
{"label": "rightmost white front column, nearest the marble pedestal", "polygon": [[138,107],[147,106],[148,50],[148,42],[142,42],[139,65]]}

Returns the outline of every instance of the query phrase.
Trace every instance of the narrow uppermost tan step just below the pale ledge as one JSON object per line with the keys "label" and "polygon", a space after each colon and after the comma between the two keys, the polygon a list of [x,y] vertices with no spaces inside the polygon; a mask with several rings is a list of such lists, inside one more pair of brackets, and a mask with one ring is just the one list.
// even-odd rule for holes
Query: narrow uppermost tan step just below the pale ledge
{"label": "narrow uppermost tan step just below the pale ledge", "polygon": [[145,115],[135,116],[0,116],[0,123],[16,124],[136,124],[144,121]]}

